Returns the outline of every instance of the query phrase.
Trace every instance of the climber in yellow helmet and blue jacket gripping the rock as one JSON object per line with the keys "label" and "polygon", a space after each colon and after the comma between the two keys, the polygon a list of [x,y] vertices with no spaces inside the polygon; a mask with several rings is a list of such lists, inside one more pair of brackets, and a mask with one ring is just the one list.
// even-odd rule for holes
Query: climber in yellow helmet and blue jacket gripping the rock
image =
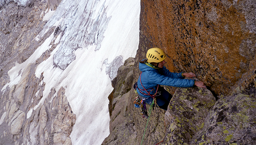
{"label": "climber in yellow helmet and blue jacket gripping the rock", "polygon": [[[173,87],[193,87],[206,88],[202,81],[184,79],[196,78],[194,73],[171,73],[165,66],[166,55],[160,48],[151,48],[146,54],[147,59],[139,62],[139,70],[142,71],[138,78],[136,91],[139,96],[146,99],[147,104],[156,98],[159,108],[167,110],[172,99],[172,95],[160,85]],[[157,93],[156,93],[157,92]]]}

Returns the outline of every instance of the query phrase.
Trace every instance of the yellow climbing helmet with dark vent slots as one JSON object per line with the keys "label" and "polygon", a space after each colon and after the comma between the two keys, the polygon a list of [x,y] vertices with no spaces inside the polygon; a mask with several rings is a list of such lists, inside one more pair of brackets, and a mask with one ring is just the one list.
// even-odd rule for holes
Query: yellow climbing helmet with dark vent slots
{"label": "yellow climbing helmet with dark vent slots", "polygon": [[146,54],[148,62],[161,62],[165,59],[166,55],[160,48],[150,48]]}

